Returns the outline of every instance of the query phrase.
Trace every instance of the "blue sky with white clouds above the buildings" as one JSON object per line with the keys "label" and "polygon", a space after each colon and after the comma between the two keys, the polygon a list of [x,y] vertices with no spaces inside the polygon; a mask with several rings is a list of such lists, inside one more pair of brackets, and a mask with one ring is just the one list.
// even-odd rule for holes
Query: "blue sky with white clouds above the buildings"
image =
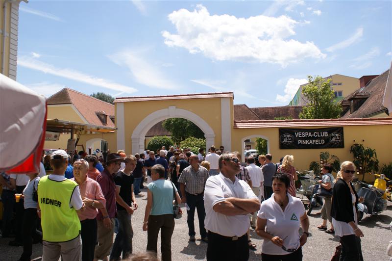
{"label": "blue sky with white clouds above the buildings", "polygon": [[392,2],[30,0],[18,43],[17,80],[46,96],[233,91],[279,106],[307,75],[387,70]]}

